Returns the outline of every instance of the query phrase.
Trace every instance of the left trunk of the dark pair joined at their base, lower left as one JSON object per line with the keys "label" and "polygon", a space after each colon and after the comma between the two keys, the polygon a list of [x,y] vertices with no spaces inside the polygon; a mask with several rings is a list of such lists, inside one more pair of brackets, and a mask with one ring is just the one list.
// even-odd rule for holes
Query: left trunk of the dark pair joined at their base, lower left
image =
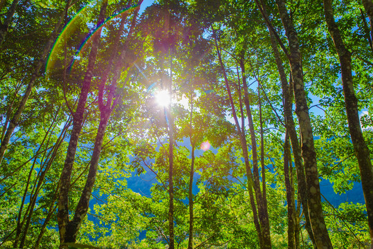
{"label": "left trunk of the dark pair joined at their base, lower left", "polygon": [[[100,15],[98,17],[97,27],[100,26],[104,21],[104,15],[107,9],[107,0],[102,1],[100,9]],[[84,77],[82,84],[82,90],[80,91],[80,97],[78,101],[77,109],[73,115],[73,130],[71,131],[71,137],[69,140],[69,147],[66,152],[66,160],[64,163],[64,169],[62,169],[61,182],[60,182],[60,196],[58,199],[58,212],[57,221],[58,228],[60,231],[60,242],[65,242],[66,229],[69,225],[69,190],[71,185],[71,172],[73,170],[73,163],[75,159],[76,149],[78,147],[78,139],[80,131],[82,130],[82,124],[84,120],[85,105],[87,102],[87,96],[91,86],[91,79],[93,76],[93,68],[95,66],[95,59],[98,51],[98,44],[100,41],[101,28],[98,29],[92,40],[91,53],[89,54],[89,60],[87,65],[87,72]]]}

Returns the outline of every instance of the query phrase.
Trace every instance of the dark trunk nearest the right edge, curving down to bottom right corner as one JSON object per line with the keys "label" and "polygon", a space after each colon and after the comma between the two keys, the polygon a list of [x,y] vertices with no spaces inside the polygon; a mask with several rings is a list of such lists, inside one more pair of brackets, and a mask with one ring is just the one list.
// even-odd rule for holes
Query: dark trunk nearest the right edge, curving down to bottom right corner
{"label": "dark trunk nearest the right edge, curving down to bottom right corner", "polygon": [[[365,5],[371,1],[364,1]],[[343,93],[345,95],[345,106],[349,133],[361,175],[361,185],[367,207],[368,225],[370,230],[371,244],[373,245],[373,168],[370,159],[370,151],[365,144],[363,131],[361,131],[360,119],[358,117],[358,100],[355,96],[354,84],[352,81],[352,59],[351,53],[343,43],[342,35],[334,20],[333,7],[330,0],[324,0],[325,19],[334,46],[340,61],[340,71],[342,73]],[[372,10],[373,11],[373,10]],[[371,13],[372,14],[372,13]],[[371,17],[371,16],[370,16]],[[371,20],[372,21],[372,20]]]}

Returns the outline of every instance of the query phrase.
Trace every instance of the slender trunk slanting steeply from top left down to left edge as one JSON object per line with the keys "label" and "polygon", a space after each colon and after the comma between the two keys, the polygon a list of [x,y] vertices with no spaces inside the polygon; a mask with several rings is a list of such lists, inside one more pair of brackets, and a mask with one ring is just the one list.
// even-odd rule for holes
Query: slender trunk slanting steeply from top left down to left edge
{"label": "slender trunk slanting steeply from top left down to left edge", "polygon": [[37,77],[39,76],[39,71],[42,68],[45,59],[48,56],[49,51],[51,50],[51,46],[55,40],[55,37],[57,37],[57,32],[60,30],[60,26],[62,24],[62,21],[65,16],[65,12],[69,9],[71,0],[68,0],[66,3],[66,8],[64,12],[62,12],[62,15],[60,16],[60,19],[57,21],[57,24],[55,25],[55,29],[53,30],[51,37],[49,37],[48,41],[46,42],[46,46],[44,47],[44,50],[42,51],[42,54],[40,55],[39,61],[37,62],[35,66],[35,71],[33,75],[31,75],[30,81],[28,82],[27,89],[22,97],[21,102],[19,103],[18,109],[15,112],[15,116],[10,120],[8,129],[6,130],[5,135],[3,136],[3,140],[1,140],[1,147],[0,147],[0,165],[3,160],[3,156],[6,152],[6,149],[8,148],[10,137],[12,136],[13,131],[15,130],[15,127],[17,127],[17,124],[19,122],[19,118],[21,118],[21,114],[24,111],[24,108],[26,106],[26,102],[28,100],[28,97],[30,96],[31,91],[33,90],[33,86],[35,84],[35,81],[37,80]]}

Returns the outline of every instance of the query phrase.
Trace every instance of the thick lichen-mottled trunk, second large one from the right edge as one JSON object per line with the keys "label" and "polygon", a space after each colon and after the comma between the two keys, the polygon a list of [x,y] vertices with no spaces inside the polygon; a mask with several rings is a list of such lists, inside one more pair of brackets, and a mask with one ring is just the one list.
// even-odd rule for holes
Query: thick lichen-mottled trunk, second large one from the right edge
{"label": "thick lichen-mottled trunk, second large one from the right edge", "polygon": [[316,151],[313,142],[307,99],[304,92],[302,57],[300,55],[298,34],[296,33],[293,22],[286,10],[285,2],[283,0],[276,0],[276,3],[280,12],[282,24],[285,28],[285,35],[289,41],[289,62],[295,95],[295,113],[298,116],[300,135],[302,138],[302,158],[306,173],[307,201],[313,237],[318,248],[333,248],[325,225],[324,216],[322,214]]}

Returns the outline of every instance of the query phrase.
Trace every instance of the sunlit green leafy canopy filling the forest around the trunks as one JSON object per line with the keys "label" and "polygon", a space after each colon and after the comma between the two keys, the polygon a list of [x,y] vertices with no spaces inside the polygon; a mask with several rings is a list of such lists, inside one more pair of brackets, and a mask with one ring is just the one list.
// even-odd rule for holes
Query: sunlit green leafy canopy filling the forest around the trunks
{"label": "sunlit green leafy canopy filling the forest around the trunks", "polygon": [[[1,27],[11,2],[1,2]],[[319,0],[287,2],[300,40],[320,181],[330,181],[335,194],[343,194],[356,187],[354,183],[361,181],[361,175],[349,135],[336,50],[327,33]],[[173,222],[176,246],[188,248],[188,191],[193,153],[193,247],[259,248],[242,145],[215,48],[216,38],[239,124],[246,140],[251,141],[244,111],[242,68],[239,68],[240,59],[244,60],[258,148],[262,143],[260,127],[264,127],[262,163],[272,247],[286,248],[283,95],[269,33],[254,1],[164,0],[153,3],[139,17],[133,15],[135,8],[127,10],[129,5],[134,6],[134,1],[131,4],[109,1],[84,107],[84,123],[71,175],[70,210],[78,205],[98,133],[100,80],[111,57],[115,56],[114,65],[122,57],[122,66],[109,68],[109,80],[118,73],[113,94],[117,102],[107,122],[89,211],[76,245],[165,248],[170,242],[168,224]],[[0,44],[1,140],[21,104],[28,82],[35,76],[39,59],[43,62],[1,163],[0,246],[12,246],[17,236],[24,238],[24,248],[57,248],[60,243],[57,231],[60,176],[72,136],[72,113],[87,73],[91,40],[97,35],[93,24],[97,22],[98,6],[100,1],[73,1],[65,14],[62,1],[20,0],[6,38]],[[286,44],[275,1],[268,1],[266,6],[280,41]],[[352,52],[361,126],[372,158],[373,60],[367,39],[369,19],[360,1],[334,1],[334,11],[345,44]],[[48,52],[49,57],[41,58],[57,20],[65,15],[65,28],[58,28],[58,38]],[[119,45],[115,46],[121,18],[126,18],[125,28],[119,34]],[[133,34],[128,37],[131,26]],[[280,56],[286,74],[290,75],[286,55]],[[172,104],[163,107],[156,95],[168,84],[172,85]],[[110,91],[108,83],[102,90],[104,101]],[[170,128],[175,140],[173,221],[168,220]],[[249,163],[253,163],[251,142],[247,144]],[[258,153],[262,156],[260,149]],[[305,219],[295,169],[291,167],[291,171],[300,248],[309,248],[311,241],[302,225]],[[129,184],[134,181],[139,182],[141,190]],[[323,203],[335,248],[353,248],[357,243],[367,246],[370,239],[367,213],[361,203]],[[27,229],[26,223],[29,223]]]}

